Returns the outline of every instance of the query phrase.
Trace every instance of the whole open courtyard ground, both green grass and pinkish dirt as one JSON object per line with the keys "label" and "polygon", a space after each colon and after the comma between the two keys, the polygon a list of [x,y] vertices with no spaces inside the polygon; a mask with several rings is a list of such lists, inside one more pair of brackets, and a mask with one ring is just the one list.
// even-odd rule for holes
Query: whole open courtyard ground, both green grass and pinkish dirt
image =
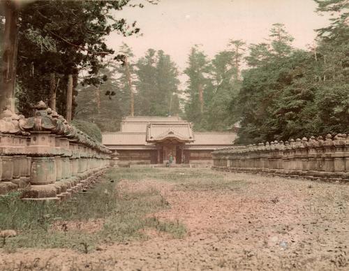
{"label": "whole open courtyard ground, both green grass and pinkish dirt", "polygon": [[61,203],[1,198],[0,270],[348,270],[348,224],[348,184],[113,168]]}

